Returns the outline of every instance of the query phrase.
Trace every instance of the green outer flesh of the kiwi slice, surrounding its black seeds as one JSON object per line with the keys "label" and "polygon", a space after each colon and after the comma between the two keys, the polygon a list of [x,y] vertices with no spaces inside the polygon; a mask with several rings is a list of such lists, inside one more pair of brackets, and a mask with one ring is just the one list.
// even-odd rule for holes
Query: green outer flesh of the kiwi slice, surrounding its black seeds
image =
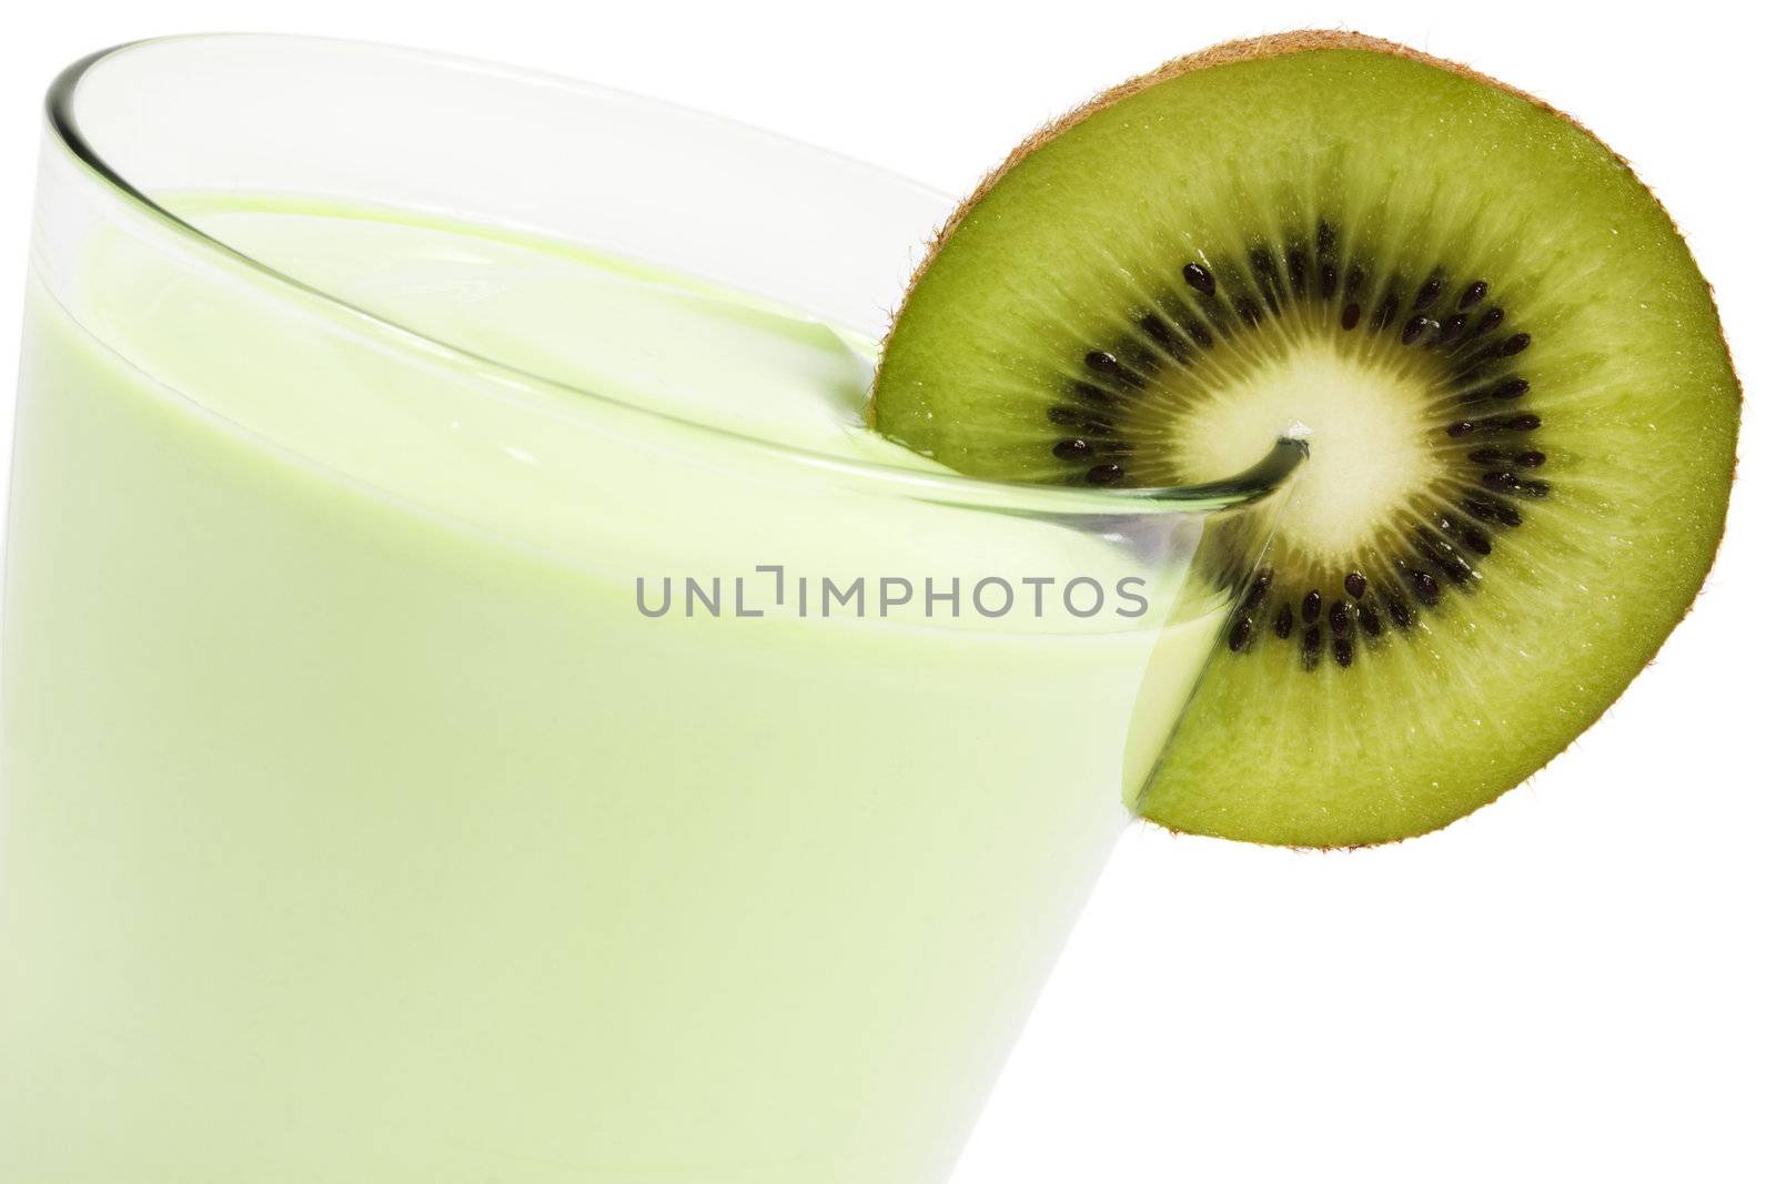
{"label": "green outer flesh of the kiwi slice, surrounding its black seeds", "polygon": [[[1510,529],[1463,518],[1488,536],[1478,575],[1444,580],[1437,604],[1407,598],[1412,623],[1373,644],[1346,627],[1353,660],[1316,641],[1309,667],[1298,607],[1286,641],[1280,605],[1236,611],[1233,628],[1263,641],[1218,653],[1137,802],[1176,831],[1353,847],[1439,829],[1565,749],[1652,660],[1719,545],[1739,383],[1707,282],[1625,162],[1545,103],[1392,43],[1312,30],[1215,46],[1043,128],[957,208],[890,330],[870,412],[954,469],[1076,483],[1043,417],[1073,407],[1055,392],[1080,357],[1154,311],[1183,325],[1181,264],[1225,282],[1250,243],[1311,254],[1316,222],[1336,225],[1341,291],[1298,318],[1302,339],[1336,337],[1359,256],[1408,302],[1424,275],[1485,279],[1533,330],[1520,360],[1545,421],[1515,453],[1547,463],[1543,501],[1497,497]],[[1364,293],[1366,321],[1378,302]],[[1437,447],[1456,414],[1428,415]],[[1204,467],[1233,470],[1263,440],[1208,444],[1117,478],[1211,479]],[[1282,534],[1275,570],[1312,566]],[[1360,607],[1318,575],[1327,605]]]}

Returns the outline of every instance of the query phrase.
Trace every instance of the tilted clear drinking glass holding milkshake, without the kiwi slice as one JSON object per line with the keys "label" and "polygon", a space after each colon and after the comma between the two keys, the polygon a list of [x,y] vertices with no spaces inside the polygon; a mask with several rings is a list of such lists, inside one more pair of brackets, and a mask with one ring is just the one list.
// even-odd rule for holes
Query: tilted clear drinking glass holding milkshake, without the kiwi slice
{"label": "tilted clear drinking glass holding milkshake, without the kiwi slice", "polygon": [[[55,82],[0,1179],[941,1179],[1302,447],[1133,492],[797,447],[249,243],[218,195],[547,238],[849,343],[948,208],[394,48],[176,37]],[[588,311],[586,366],[632,346]]]}

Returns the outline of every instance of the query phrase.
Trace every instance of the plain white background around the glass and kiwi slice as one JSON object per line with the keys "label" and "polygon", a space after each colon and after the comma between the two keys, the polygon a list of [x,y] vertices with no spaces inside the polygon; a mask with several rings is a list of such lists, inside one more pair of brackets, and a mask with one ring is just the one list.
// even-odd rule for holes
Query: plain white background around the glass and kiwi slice
{"label": "plain white background around the glass and kiwi slice", "polygon": [[1751,12],[28,4],[0,36],[0,275],[14,277],[0,366],[12,371],[41,91],[139,36],[474,53],[712,108],[950,192],[1094,91],[1233,36],[1359,28],[1529,89],[1634,162],[1716,286],[1748,403],[1696,611],[1572,751],[1440,834],[1300,854],[1130,833],[957,1184],[1776,1180],[1776,108],[1771,30]]}

